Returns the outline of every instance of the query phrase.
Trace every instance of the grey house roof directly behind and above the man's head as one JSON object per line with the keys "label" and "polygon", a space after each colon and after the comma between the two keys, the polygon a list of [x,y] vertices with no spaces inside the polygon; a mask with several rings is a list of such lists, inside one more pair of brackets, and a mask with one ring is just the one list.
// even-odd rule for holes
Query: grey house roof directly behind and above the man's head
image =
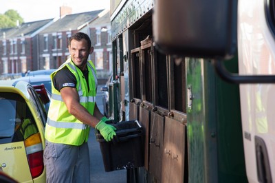
{"label": "grey house roof directly behind and above the man's head", "polygon": [[65,32],[70,30],[78,30],[78,27],[94,21],[98,17],[98,14],[102,12],[102,10],[95,10],[91,12],[82,12],[77,14],[67,14],[62,19],[58,19],[58,21],[52,23],[45,30],[40,32],[41,34],[50,33],[50,32]]}

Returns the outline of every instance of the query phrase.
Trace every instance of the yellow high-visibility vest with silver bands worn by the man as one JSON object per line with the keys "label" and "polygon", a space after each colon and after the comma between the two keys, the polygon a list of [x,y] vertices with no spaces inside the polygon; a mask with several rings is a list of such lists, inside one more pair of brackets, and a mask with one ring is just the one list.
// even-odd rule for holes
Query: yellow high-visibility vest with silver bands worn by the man
{"label": "yellow high-visibility vest with silver bands worn by the man", "polygon": [[[87,69],[89,70],[89,83],[86,82],[83,73],[78,67],[76,67],[76,65],[74,65],[71,58],[51,74],[52,100],[45,127],[45,139],[50,142],[79,146],[83,144],[83,142],[87,142],[89,138],[89,125],[85,125],[72,114],[69,114],[69,111],[61,97],[61,93],[55,89],[53,84],[53,78],[56,72],[67,66],[74,76],[76,76],[76,89],[78,90],[80,105],[83,105],[83,107],[93,115],[96,104],[96,88],[98,81],[94,64],[91,61],[88,61],[87,65]],[[87,85],[89,85],[89,91]]]}

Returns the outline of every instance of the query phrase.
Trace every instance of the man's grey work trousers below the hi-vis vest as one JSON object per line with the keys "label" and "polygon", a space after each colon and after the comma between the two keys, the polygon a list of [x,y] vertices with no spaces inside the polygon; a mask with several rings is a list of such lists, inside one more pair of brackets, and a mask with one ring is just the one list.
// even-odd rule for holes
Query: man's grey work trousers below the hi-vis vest
{"label": "man's grey work trousers below the hi-vis vest", "polygon": [[90,182],[89,148],[45,142],[44,163],[48,183]]}

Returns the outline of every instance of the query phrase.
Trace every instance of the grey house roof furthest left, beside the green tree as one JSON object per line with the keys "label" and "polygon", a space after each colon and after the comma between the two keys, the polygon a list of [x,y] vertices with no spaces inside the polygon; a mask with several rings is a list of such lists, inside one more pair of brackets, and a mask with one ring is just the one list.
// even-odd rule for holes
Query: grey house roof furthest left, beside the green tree
{"label": "grey house roof furthest left, beside the green tree", "polygon": [[[43,28],[54,19],[46,19],[41,21],[32,21],[27,23],[22,23],[17,28],[5,28],[0,29],[0,39],[14,39],[21,36],[31,36],[37,30]],[[5,32],[5,38],[3,37],[3,32]]]}

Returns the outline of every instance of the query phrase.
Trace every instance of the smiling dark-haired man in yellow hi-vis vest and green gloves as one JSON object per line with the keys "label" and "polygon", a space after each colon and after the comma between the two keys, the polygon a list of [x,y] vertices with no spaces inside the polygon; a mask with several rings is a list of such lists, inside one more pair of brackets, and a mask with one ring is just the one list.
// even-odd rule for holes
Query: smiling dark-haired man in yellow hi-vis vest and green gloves
{"label": "smiling dark-haired man in yellow hi-vis vest and green gloves", "polygon": [[96,105],[96,69],[87,61],[93,51],[87,34],[73,34],[70,58],[51,74],[44,151],[47,182],[90,182],[89,127],[98,129],[106,141],[116,135]]}

